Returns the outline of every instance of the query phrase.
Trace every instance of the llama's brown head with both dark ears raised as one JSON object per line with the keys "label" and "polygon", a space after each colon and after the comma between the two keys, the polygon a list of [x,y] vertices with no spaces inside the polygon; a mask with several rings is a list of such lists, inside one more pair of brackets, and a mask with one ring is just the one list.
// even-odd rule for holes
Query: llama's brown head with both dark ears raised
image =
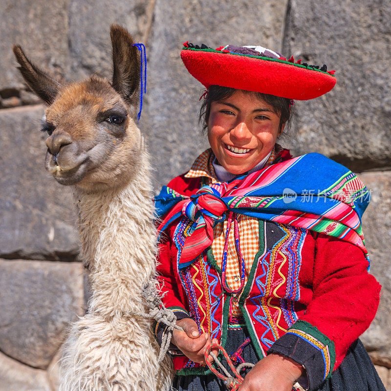
{"label": "llama's brown head with both dark ears raised", "polygon": [[45,168],[63,185],[86,191],[123,186],[138,170],[140,55],[129,32],[110,27],[112,82],[96,75],[65,83],[40,69],[21,46],[13,51],[28,86],[47,105]]}

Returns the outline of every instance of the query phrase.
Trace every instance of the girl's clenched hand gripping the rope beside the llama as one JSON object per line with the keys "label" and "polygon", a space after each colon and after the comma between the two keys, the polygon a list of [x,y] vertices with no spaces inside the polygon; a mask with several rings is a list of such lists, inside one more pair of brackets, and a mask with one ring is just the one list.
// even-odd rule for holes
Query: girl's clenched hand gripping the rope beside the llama
{"label": "girl's clenched hand gripping the rope beside the llama", "polygon": [[[205,364],[204,353],[206,348],[212,345],[212,339],[208,333],[199,334],[197,324],[193,319],[181,319],[176,324],[184,331],[174,328],[173,344],[190,360],[195,363]],[[214,340],[214,342],[217,342]],[[217,350],[213,352],[217,354]],[[213,361],[212,357],[209,359]]]}

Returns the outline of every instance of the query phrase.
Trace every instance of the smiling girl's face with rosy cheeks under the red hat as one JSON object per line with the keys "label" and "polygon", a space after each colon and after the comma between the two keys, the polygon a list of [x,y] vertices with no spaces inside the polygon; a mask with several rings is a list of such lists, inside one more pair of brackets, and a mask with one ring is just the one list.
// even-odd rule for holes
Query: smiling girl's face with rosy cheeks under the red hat
{"label": "smiling girl's face with rosy cheeks under the red hat", "polygon": [[280,116],[263,100],[238,90],[211,103],[207,125],[218,162],[237,175],[254,168],[273,149]]}

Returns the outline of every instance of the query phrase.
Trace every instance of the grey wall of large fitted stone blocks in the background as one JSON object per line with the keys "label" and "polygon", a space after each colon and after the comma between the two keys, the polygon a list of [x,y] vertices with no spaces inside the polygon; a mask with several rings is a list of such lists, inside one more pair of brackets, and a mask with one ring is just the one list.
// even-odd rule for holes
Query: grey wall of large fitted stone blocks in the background
{"label": "grey wall of large fitted stone blocks in the background", "polygon": [[156,189],[207,146],[197,124],[203,88],[181,64],[181,43],[260,43],[337,70],[330,93],[295,104],[295,135],[281,143],[296,155],[326,154],[358,172],[371,190],[363,225],[371,272],[383,289],[362,339],[391,390],[389,10],[388,0],[1,1],[0,391],[57,390],[67,324],[86,306],[71,197],[43,168],[43,106],[23,85],[11,44],[68,79],[109,75],[111,22],[147,45],[140,127]]}

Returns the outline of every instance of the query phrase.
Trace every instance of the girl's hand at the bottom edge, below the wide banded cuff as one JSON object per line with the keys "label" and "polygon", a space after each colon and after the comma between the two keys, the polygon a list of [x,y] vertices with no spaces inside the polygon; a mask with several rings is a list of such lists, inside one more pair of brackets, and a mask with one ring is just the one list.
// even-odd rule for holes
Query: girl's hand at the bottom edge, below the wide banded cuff
{"label": "girl's hand at the bottom edge, below the wide banded cuff", "polygon": [[238,391],[292,391],[303,371],[295,361],[269,354],[247,373]]}

